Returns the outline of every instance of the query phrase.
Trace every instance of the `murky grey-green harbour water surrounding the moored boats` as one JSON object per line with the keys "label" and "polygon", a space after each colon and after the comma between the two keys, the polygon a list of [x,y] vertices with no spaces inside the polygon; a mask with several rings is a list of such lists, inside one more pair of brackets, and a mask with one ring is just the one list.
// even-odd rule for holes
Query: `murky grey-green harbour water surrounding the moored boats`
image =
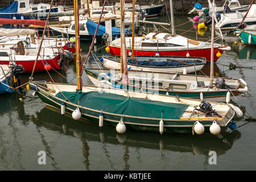
{"label": "murky grey-green harbour water surrounding the moored boats", "polygon": [[[154,20],[154,19],[152,19]],[[159,22],[166,19],[159,18]],[[175,16],[175,24],[187,22],[187,16]],[[192,23],[176,28],[181,34]],[[147,28],[144,29],[147,31]],[[184,36],[194,36],[187,32]],[[199,38],[210,38],[210,30]],[[241,104],[251,117],[256,118],[256,47],[236,44],[237,37],[225,36],[232,50],[225,52],[217,64],[214,75],[243,78],[249,86],[244,97],[238,96],[235,104]],[[81,44],[82,56],[86,56],[90,44]],[[97,44],[100,47],[100,43]],[[105,48],[97,55],[106,55]],[[237,68],[230,70],[230,63]],[[90,59],[88,67],[97,68],[100,63]],[[101,66],[101,65],[100,65]],[[209,75],[207,64],[202,69]],[[243,68],[242,68],[243,67]],[[244,67],[252,67],[246,69]],[[55,82],[69,82],[76,76],[76,67],[69,64],[61,77],[54,71]],[[22,83],[30,75],[22,75]],[[83,84],[92,84],[84,74]],[[36,73],[34,80],[51,78],[47,73]],[[76,82],[72,80],[72,82]],[[32,93],[27,93],[31,96]],[[0,170],[255,170],[256,122],[236,119],[237,129],[227,129],[221,135],[181,135],[127,130],[117,134],[114,127],[89,121],[75,121],[71,115],[61,117],[60,111],[44,105],[39,98],[26,97],[23,101],[16,93],[0,96]],[[243,110],[244,111],[244,110]],[[249,115],[245,113],[246,115]],[[46,164],[39,165],[39,151],[46,152]],[[216,164],[210,164],[209,152],[217,154]]]}

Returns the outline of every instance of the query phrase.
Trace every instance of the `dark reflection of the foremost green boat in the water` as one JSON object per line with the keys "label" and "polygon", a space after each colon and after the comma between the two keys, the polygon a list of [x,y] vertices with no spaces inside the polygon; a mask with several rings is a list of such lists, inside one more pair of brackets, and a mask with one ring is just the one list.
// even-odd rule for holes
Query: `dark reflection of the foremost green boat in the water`
{"label": "dark reflection of the foremost green boat in the water", "polygon": [[[36,122],[34,123],[39,129],[40,127],[44,127],[47,130],[58,131],[60,134],[74,136],[81,140],[82,155],[84,156],[83,163],[85,164],[86,170],[90,170],[90,159],[93,158],[90,155],[94,155],[97,152],[93,150],[95,147],[90,147],[89,142],[100,142],[103,144],[102,151],[112,169],[117,169],[115,164],[118,163],[122,164],[123,170],[129,170],[131,148],[135,148],[138,154],[137,163],[142,162],[140,150],[144,148],[159,151],[162,160],[165,160],[164,152],[172,151],[204,155],[205,160],[208,161],[209,151],[216,151],[217,156],[224,155],[226,151],[232,148],[233,143],[241,138],[241,133],[238,130],[222,131],[218,136],[210,134],[193,136],[175,134],[160,135],[158,133],[141,133],[134,130],[127,130],[125,134],[121,135],[116,133],[114,127],[104,126],[100,129],[95,123],[85,120],[84,123],[71,121],[73,121],[71,115],[66,114],[65,117],[61,117],[58,110],[46,106],[40,112],[36,113]],[[113,162],[113,158],[117,158],[108,151],[109,144],[119,148],[118,155],[122,155],[122,161]]]}

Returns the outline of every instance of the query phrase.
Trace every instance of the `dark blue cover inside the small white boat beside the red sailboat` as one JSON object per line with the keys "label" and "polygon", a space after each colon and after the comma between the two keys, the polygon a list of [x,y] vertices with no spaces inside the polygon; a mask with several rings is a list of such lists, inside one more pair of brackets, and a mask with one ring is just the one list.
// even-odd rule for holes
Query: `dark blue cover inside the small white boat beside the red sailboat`
{"label": "dark blue cover inside the small white boat beside the red sailboat", "polygon": [[[137,60],[127,60],[129,64],[137,65]],[[200,62],[185,62],[191,64],[200,64]],[[184,66],[185,64],[175,62],[175,61],[138,61],[138,65],[146,67],[179,67]]]}

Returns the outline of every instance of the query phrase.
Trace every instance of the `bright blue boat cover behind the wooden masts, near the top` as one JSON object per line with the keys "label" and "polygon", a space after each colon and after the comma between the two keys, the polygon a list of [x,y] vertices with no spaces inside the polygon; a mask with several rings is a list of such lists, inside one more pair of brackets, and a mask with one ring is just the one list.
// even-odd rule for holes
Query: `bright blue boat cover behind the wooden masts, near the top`
{"label": "bright blue boat cover behind the wooden masts, near the top", "polygon": [[[90,19],[86,22],[86,27],[87,27],[88,33],[90,35],[94,35],[96,28],[97,28],[97,24],[98,23],[95,23]],[[97,35],[103,35],[105,32],[106,32],[105,26],[100,24],[98,26]],[[125,28],[125,34],[131,34],[131,31],[128,31],[127,28]],[[112,35],[120,35],[120,28],[112,27]]]}

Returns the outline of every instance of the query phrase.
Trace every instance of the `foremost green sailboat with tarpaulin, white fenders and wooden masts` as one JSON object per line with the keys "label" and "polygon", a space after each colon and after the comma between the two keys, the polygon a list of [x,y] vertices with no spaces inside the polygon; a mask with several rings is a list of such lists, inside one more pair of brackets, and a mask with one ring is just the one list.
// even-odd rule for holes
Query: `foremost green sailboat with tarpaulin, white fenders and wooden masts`
{"label": "foremost green sailboat with tarpaulin, white fenders and wooden masts", "polygon": [[[104,5],[103,8],[105,6]],[[121,22],[124,10],[121,1]],[[118,133],[125,133],[127,128],[162,133],[197,133],[210,132],[217,135],[221,127],[231,127],[236,114],[229,104],[205,102],[188,98],[162,96],[152,93],[129,92],[129,90],[105,89],[95,86],[83,86],[81,75],[81,56],[79,43],[78,3],[74,1],[76,22],[76,66],[77,85],[57,84],[55,82],[33,81],[28,84],[39,98],[48,106],[55,107],[61,114],[72,114],[73,119],[89,119],[104,125],[115,126]],[[102,10],[103,10],[102,8]],[[100,22],[98,22],[99,24]],[[121,24],[122,26],[122,24]],[[123,28],[122,36],[123,37]],[[96,31],[97,34],[97,31]],[[96,37],[94,34],[94,38]],[[125,38],[124,38],[125,39]],[[123,40],[124,40],[123,39]],[[125,40],[124,40],[125,41]],[[92,42],[93,45],[93,42]],[[92,46],[89,53],[92,50]],[[123,44],[123,60],[126,60]],[[89,53],[86,57],[88,60]],[[85,60],[85,61],[86,61]],[[122,81],[129,82],[127,64],[121,69]],[[122,67],[121,67],[122,68]]]}

